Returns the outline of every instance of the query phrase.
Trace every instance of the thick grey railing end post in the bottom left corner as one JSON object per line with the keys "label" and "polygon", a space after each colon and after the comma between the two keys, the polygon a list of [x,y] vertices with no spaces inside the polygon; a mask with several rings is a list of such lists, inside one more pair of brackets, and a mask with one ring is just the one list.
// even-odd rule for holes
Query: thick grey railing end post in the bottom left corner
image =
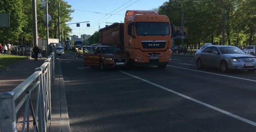
{"label": "thick grey railing end post in the bottom left corner", "polygon": [[0,94],[0,131],[17,132],[14,92]]}

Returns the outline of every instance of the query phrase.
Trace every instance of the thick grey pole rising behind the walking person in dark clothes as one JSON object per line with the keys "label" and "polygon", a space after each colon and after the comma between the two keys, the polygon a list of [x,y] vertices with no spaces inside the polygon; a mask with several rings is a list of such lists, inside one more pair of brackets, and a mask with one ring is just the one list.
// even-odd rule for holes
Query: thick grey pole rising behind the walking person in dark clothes
{"label": "thick grey pole rising behind the walking person in dark clothes", "polygon": [[37,18],[36,18],[36,0],[32,0],[32,10],[33,10],[33,32],[34,32],[34,41],[33,47],[37,44]]}

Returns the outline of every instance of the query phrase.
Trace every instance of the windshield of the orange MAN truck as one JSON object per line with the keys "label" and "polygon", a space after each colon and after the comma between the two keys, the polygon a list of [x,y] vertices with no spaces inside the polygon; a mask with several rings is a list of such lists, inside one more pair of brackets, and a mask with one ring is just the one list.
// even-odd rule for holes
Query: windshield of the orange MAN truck
{"label": "windshield of the orange MAN truck", "polygon": [[136,34],[140,36],[164,36],[170,34],[169,22],[136,22],[135,25]]}

